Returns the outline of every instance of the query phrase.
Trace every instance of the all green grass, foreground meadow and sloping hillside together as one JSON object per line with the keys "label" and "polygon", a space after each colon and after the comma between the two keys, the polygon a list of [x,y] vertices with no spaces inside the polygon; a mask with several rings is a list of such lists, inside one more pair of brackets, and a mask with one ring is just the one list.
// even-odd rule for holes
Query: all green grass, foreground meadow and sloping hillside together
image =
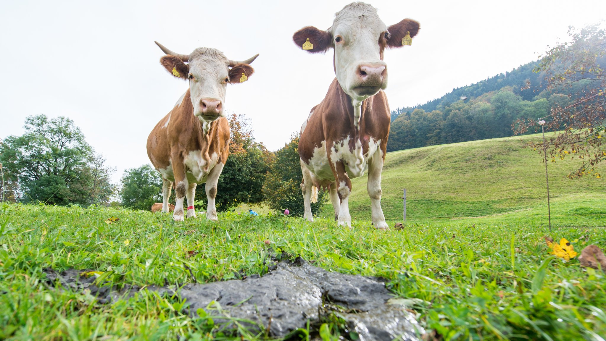
{"label": "all green grass, foreground meadow and sloping hillside together", "polygon": [[[229,212],[218,223],[174,222],[146,211],[0,204],[0,339],[267,339],[220,329],[212,307],[190,317],[178,296],[141,290],[101,304],[56,288],[44,270],[104,271],[117,286],[182,285],[263,275],[283,251],[327,270],[384,277],[444,340],[603,340],[604,273],[550,256],[543,237],[566,237],[578,252],[591,243],[606,249],[604,182],[568,180],[571,164],[549,164],[549,232],[539,161],[517,139],[388,154],[382,203],[390,225],[401,221],[407,188],[403,230],[371,227],[365,179],[354,181],[352,230],[330,218]],[[110,217],[119,220],[108,224]]]}

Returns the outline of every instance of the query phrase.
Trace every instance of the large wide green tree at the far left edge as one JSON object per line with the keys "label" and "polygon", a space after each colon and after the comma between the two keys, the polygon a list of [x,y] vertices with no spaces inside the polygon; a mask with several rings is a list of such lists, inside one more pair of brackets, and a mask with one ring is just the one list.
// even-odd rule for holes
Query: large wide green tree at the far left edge
{"label": "large wide green tree at the far left edge", "polygon": [[23,202],[90,205],[107,202],[113,193],[105,159],[87,144],[71,119],[44,114],[28,116],[22,136],[0,145],[0,162],[8,179],[18,183]]}

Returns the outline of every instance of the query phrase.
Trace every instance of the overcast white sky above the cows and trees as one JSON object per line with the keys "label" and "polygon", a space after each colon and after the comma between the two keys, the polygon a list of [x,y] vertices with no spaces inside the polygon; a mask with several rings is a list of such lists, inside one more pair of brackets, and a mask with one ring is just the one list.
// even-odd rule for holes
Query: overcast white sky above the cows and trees
{"label": "overcast white sky above the cows and trees", "polygon": [[[306,25],[330,27],[348,0],[2,1],[0,138],[20,135],[34,114],[68,116],[116,166],[148,163],[151,128],[187,89],[158,61],[159,41],[178,53],[214,47],[253,62],[255,74],[227,90],[225,108],[251,120],[276,150],[299,130],[335,77],[332,53],[292,42]],[[390,107],[423,104],[455,87],[533,61],[567,38],[568,25],[606,18],[606,1],[375,0],[387,25],[421,23],[410,47],[385,52]]]}

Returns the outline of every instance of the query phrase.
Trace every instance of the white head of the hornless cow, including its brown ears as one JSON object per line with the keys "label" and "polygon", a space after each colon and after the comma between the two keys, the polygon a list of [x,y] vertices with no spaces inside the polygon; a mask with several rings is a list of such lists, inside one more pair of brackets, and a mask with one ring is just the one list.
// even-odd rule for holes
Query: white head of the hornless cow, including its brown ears
{"label": "white head of the hornless cow, including its brown ears", "polygon": [[[419,23],[412,19],[387,27],[376,8],[364,2],[352,2],[335,14],[328,30],[307,26],[296,31],[293,40],[311,53],[335,49],[337,81],[356,105],[387,87],[385,47],[401,47],[407,32],[412,38],[418,31]],[[313,47],[304,46],[305,43]]]}

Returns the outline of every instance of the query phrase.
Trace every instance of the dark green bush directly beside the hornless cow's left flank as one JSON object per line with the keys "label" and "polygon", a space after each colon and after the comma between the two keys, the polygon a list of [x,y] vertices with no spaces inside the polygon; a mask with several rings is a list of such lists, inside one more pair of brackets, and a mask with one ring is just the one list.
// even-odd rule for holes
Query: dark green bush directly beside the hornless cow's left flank
{"label": "dark green bush directly beside the hornless cow's left flank", "polygon": [[[291,214],[305,213],[303,196],[301,194],[301,164],[299,163],[299,135],[293,134],[290,142],[276,151],[276,161],[267,174],[263,193],[272,210]],[[326,191],[318,192],[318,202],[311,204],[311,213],[318,214],[328,196]]]}

